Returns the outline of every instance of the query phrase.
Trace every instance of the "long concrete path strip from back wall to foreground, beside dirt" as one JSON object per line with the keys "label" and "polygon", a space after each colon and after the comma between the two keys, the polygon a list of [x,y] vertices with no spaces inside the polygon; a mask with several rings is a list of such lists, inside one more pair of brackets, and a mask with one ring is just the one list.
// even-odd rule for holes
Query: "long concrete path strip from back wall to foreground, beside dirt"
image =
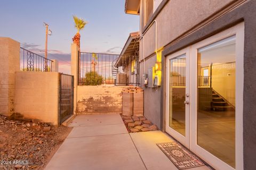
{"label": "long concrete path strip from back wall to foreground, beside dirt", "polygon": [[78,115],[45,169],[146,169],[119,114]]}

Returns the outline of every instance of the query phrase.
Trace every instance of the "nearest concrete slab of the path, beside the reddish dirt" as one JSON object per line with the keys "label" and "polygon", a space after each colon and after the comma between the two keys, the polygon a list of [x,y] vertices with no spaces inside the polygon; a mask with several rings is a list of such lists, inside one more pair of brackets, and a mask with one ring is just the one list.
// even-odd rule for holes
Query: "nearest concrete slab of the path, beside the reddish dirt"
{"label": "nearest concrete slab of the path, beside the reddish dirt", "polygon": [[45,169],[146,169],[129,134],[67,138]]}

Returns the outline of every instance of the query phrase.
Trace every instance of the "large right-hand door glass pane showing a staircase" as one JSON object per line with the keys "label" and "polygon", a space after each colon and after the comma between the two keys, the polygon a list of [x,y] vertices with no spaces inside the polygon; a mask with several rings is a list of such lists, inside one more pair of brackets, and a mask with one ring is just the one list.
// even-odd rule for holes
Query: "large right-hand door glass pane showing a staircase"
{"label": "large right-hand door glass pane showing a staircase", "polygon": [[197,145],[235,168],[235,36],[197,50],[197,79]]}

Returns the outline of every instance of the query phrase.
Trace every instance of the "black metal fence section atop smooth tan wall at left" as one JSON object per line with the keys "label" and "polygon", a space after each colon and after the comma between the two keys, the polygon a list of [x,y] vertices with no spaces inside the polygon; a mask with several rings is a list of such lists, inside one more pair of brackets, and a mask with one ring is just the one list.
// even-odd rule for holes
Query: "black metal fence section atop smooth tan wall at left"
{"label": "black metal fence section atop smooth tan wall at left", "polygon": [[52,62],[52,60],[20,47],[21,71],[51,72]]}

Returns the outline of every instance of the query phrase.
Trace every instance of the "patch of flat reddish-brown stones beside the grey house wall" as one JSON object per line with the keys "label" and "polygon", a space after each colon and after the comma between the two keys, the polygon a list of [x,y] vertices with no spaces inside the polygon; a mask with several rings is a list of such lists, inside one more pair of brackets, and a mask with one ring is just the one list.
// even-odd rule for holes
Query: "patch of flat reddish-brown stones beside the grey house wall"
{"label": "patch of flat reddish-brown stones beside the grey house wall", "polygon": [[124,116],[121,114],[121,117],[129,133],[157,130],[157,126],[144,116]]}

